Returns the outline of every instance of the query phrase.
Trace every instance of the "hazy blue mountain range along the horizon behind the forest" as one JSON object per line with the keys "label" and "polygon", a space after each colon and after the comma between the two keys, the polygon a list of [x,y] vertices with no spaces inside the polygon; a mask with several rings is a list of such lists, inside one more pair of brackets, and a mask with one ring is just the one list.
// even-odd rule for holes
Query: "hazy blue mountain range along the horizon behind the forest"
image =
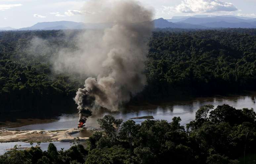
{"label": "hazy blue mountain range along the horizon behind the forest", "polygon": [[[155,28],[256,28],[256,18],[242,16],[174,16],[172,19],[153,20]],[[72,21],[55,21],[36,23],[31,27],[14,29],[12,27],[0,28],[4,30],[59,30],[59,29],[102,29],[111,27],[112,23],[82,23]]]}

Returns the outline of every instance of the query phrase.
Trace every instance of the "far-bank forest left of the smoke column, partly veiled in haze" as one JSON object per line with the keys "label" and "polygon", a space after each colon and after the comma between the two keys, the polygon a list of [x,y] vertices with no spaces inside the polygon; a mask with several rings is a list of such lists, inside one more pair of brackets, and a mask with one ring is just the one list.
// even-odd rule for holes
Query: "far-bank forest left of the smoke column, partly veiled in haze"
{"label": "far-bank forest left of the smoke column, partly veiled in haze", "polygon": [[72,98],[84,79],[53,69],[58,50],[73,49],[74,42],[64,35],[62,31],[0,32],[0,113],[45,113],[56,106],[63,111],[75,109]]}

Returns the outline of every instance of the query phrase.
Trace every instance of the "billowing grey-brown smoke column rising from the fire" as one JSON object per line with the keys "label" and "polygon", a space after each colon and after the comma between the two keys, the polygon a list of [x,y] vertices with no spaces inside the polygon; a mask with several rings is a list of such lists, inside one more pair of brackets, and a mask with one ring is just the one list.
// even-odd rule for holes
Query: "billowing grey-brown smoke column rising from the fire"
{"label": "billowing grey-brown smoke column rising from the fire", "polygon": [[[148,51],[147,40],[153,28],[151,10],[138,2],[96,0],[86,4],[87,9],[90,7],[102,12],[98,14],[99,21],[113,25],[101,34],[90,34],[93,41],[86,43],[88,49],[81,50],[83,52],[77,58],[80,62],[87,61],[84,62],[88,68],[84,68],[85,72],[97,74],[97,78],[85,80],[84,88],[79,88],[74,98],[82,123],[92,114],[91,110],[118,110],[131,96],[142,91],[146,84],[142,72]],[[93,11],[88,13],[97,15]],[[70,61],[66,63],[71,65]],[[77,68],[83,67],[81,65]]]}

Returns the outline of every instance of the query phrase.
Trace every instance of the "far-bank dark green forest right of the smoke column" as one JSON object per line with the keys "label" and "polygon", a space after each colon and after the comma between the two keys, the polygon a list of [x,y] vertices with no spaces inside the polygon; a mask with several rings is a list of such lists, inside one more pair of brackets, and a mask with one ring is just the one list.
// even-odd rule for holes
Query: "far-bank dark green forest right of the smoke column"
{"label": "far-bank dark green forest right of the smoke column", "polygon": [[155,31],[143,95],[162,99],[256,89],[256,30]]}

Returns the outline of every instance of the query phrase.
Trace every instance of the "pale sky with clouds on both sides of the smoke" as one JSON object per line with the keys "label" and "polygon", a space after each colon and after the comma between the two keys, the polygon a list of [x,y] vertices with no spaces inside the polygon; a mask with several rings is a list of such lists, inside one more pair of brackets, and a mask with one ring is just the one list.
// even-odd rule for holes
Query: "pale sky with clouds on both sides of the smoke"
{"label": "pale sky with clouds on both sides of the smoke", "polygon": [[[0,27],[22,28],[45,21],[88,22],[88,0],[0,0]],[[256,0],[138,0],[154,18],[192,15],[256,17]],[[89,19],[88,19],[89,20]]]}

